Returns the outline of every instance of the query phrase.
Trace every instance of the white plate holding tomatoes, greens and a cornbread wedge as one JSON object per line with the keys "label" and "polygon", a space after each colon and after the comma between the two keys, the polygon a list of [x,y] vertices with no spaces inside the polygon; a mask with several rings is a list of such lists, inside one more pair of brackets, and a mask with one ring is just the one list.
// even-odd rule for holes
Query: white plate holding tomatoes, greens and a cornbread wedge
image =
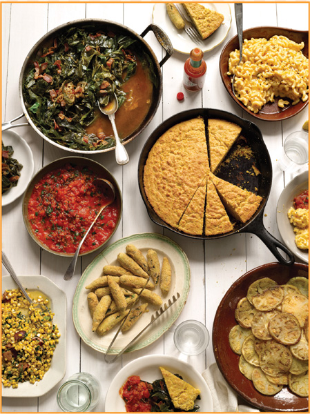
{"label": "white plate holding tomatoes, greens and a cornbread wedge", "polygon": [[162,378],[159,366],[168,369],[173,374],[181,375],[184,381],[200,390],[201,400],[196,400],[196,404],[200,406],[200,413],[210,413],[213,411],[213,400],[209,386],[193,366],[175,357],[168,357],[167,355],[148,355],[129,362],[114,377],[106,394],[104,407],[106,413],[126,412],[124,400],[119,395],[119,388],[121,388],[130,375],[139,375],[141,380],[147,382],[159,380]]}

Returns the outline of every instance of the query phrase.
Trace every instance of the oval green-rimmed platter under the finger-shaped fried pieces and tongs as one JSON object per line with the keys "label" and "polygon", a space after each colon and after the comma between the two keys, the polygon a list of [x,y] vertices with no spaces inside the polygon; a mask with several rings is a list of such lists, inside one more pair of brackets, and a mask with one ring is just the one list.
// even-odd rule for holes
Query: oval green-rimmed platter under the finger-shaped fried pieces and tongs
{"label": "oval green-rimmed platter under the finger-shaped fried pieces and tongs", "polygon": [[[167,303],[168,299],[171,299],[176,293],[180,293],[180,299],[178,299],[171,308],[168,308],[168,310],[159,317],[150,328],[146,329],[146,331],[137,339],[137,342],[130,346],[126,352],[142,349],[161,337],[182,312],[189,291],[191,273],[188,259],[180,246],[171,239],[168,239],[168,237],[155,233],[143,233],[120,239],[118,242],[111,244],[95,257],[93,262],[91,262],[84,271],[77,284],[72,306],[73,323],[75,324],[77,333],[88,346],[91,346],[102,353],[106,353],[110,342],[117,332],[118,326],[101,337],[92,331],[92,319],[87,304],[89,290],[86,290],[85,286],[97,279],[97,277],[102,276],[102,268],[106,264],[119,265],[117,262],[117,255],[121,252],[126,252],[127,244],[134,244],[142,251],[144,257],[146,256],[147,250],[153,248],[157,252],[160,264],[162,264],[162,258],[164,256],[168,258],[172,270],[172,284],[171,290],[168,295],[163,298],[163,302]],[[160,294],[159,286],[155,288],[154,292]],[[158,306],[149,304],[148,309],[149,312],[145,313],[133,328],[126,333],[119,333],[109,351],[110,354],[116,354],[122,351],[122,348],[124,348],[137,333],[142,331],[144,326],[151,322],[151,317],[155,311],[157,311]]]}

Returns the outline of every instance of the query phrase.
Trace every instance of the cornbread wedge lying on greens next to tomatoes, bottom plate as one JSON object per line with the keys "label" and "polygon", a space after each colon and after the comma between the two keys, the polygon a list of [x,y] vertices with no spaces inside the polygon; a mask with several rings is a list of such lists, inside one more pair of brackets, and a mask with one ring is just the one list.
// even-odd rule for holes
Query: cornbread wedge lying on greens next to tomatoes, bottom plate
{"label": "cornbread wedge lying on greens next to tomatoes, bottom plate", "polygon": [[173,375],[162,366],[159,366],[159,369],[162,371],[162,376],[175,408],[180,408],[182,411],[192,410],[196,398],[200,395],[200,390]]}

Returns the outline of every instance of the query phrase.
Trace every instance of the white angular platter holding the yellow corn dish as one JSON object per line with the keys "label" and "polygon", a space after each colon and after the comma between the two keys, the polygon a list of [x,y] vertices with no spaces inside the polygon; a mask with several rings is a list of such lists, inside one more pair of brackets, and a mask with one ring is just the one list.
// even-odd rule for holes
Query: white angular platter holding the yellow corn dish
{"label": "white angular platter holding the yellow corn dish", "polygon": [[[2,386],[2,397],[39,397],[48,393],[66,373],[66,293],[48,277],[42,275],[19,276],[19,280],[24,288],[40,290],[48,296],[52,312],[55,313],[53,321],[58,326],[61,337],[55,348],[50,369],[43,376],[43,380],[35,382],[35,384],[23,382],[17,388]],[[2,276],[2,292],[6,289],[17,288],[18,286],[12,277]]]}

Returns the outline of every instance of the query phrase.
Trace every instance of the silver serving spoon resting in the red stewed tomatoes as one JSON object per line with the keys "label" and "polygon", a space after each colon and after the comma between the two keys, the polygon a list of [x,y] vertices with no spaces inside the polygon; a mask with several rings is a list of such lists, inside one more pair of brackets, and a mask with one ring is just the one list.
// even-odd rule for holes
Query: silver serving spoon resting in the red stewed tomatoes
{"label": "silver serving spoon resting in the red stewed tomatoes", "polygon": [[79,246],[77,246],[77,250],[75,251],[75,255],[72,257],[72,261],[70,262],[68,269],[66,270],[66,273],[64,275],[64,280],[70,280],[73,276],[73,274],[75,273],[75,266],[77,265],[77,258],[79,257],[79,250],[81,248],[81,245],[84,243],[84,240],[86,239],[90,228],[93,227],[93,225],[95,224],[95,221],[97,221],[97,218],[99,217],[99,215],[101,215],[102,210],[104,210],[104,208],[110,206],[110,204],[113,203],[113,201],[115,200],[115,188],[113,186],[112,183],[110,183],[110,181],[108,181],[107,179],[104,178],[97,178],[94,179],[93,184],[95,184],[96,186],[101,186],[101,188],[104,188],[106,190],[106,195],[108,196],[108,201],[105,201],[104,204],[101,204],[100,209],[99,209],[99,213],[97,213],[95,219],[93,219],[92,224],[90,224],[88,230],[86,231],[83,239],[81,239],[81,242],[79,242]]}

